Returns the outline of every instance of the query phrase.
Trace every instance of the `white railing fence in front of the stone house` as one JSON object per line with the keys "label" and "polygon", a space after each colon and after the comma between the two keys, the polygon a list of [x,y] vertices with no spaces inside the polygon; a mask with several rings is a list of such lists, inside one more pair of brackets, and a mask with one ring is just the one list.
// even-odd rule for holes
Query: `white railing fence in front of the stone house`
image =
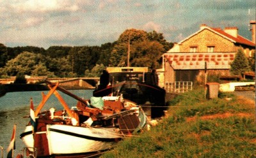
{"label": "white railing fence in front of the stone house", "polygon": [[169,93],[184,93],[193,89],[193,82],[166,82],[164,87]]}

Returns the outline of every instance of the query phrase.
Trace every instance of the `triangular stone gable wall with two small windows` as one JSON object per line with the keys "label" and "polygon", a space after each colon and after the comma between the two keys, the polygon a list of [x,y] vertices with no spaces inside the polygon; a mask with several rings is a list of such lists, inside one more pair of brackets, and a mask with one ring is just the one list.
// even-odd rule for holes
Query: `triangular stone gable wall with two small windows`
{"label": "triangular stone gable wall with two small windows", "polygon": [[222,36],[204,29],[180,45],[180,52],[190,52],[190,47],[197,47],[198,52],[207,52],[207,47],[215,47],[214,52],[236,52],[234,43]]}

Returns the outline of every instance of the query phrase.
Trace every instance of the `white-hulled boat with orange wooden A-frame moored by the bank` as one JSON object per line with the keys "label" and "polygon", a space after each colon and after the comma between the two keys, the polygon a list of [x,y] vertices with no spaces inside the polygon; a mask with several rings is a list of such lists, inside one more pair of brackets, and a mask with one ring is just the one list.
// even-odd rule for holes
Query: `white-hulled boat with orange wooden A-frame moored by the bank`
{"label": "white-hulled boat with orange wooden A-frame moored by the bank", "polygon": [[[20,134],[26,147],[32,147],[29,152],[36,148],[38,157],[79,157],[109,150],[122,138],[141,131],[147,124],[143,110],[135,103],[122,99],[122,96],[93,97],[96,101],[80,98],[76,107],[67,108],[56,91],[57,88],[60,90],[58,84],[49,87],[49,94],[43,95],[42,103],[35,110],[37,126],[29,122],[24,133]],[[52,93],[65,110],[51,108],[40,113]],[[99,106],[100,102],[103,105]]]}

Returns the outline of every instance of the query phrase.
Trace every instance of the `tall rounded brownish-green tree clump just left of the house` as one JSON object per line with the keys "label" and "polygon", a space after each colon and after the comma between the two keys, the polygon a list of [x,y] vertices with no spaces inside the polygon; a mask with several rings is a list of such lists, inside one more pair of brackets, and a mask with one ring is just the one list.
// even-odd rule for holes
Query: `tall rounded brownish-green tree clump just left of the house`
{"label": "tall rounded brownish-green tree clump just left of the house", "polygon": [[[147,33],[136,29],[127,29],[113,47],[109,59],[112,66],[127,66],[127,52],[130,42],[130,66],[159,68],[161,55],[171,47],[156,31]],[[168,46],[168,47],[167,47]],[[164,48],[166,47],[166,49]]]}

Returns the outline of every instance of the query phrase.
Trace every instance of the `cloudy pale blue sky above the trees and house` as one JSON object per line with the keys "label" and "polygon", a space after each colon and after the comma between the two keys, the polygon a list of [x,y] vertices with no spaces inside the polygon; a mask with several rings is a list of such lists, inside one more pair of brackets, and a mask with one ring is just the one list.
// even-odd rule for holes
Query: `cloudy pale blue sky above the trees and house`
{"label": "cloudy pale blue sky above the trees and house", "polygon": [[255,0],[0,0],[6,47],[100,46],[126,29],[157,31],[179,42],[200,29],[237,27],[252,39]]}

